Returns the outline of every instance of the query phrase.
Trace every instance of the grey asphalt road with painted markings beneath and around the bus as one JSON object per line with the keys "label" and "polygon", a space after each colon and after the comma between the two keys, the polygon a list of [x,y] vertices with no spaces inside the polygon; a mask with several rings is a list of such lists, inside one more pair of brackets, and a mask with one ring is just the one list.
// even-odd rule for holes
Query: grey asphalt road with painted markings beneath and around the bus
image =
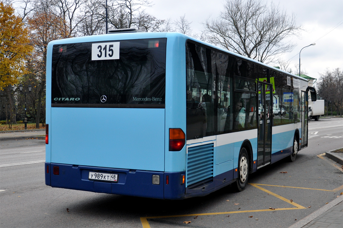
{"label": "grey asphalt road with painted markings beneath and around the bus", "polygon": [[[343,118],[311,121],[309,146],[295,162],[263,167],[243,192],[225,187],[180,201],[51,188],[44,182],[44,140],[3,141],[0,227],[288,227],[343,191],[336,189],[343,185],[337,164],[317,156],[343,147],[342,138]],[[153,216],[159,217],[146,218]]]}

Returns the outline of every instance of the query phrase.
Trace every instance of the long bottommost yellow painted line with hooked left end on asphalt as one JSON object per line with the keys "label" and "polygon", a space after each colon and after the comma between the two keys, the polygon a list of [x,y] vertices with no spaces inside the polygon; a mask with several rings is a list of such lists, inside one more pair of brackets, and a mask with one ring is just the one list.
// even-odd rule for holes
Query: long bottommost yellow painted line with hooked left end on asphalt
{"label": "long bottommost yellow painted line with hooked left end on asphalt", "polygon": [[150,225],[149,225],[149,223],[147,221],[147,219],[149,219],[149,218],[175,218],[175,217],[200,216],[200,215],[223,215],[223,214],[235,214],[235,213],[246,213],[246,212],[282,211],[282,210],[294,210],[294,209],[303,209],[303,208],[300,208],[300,207],[290,207],[290,208],[275,208],[275,210],[263,209],[263,210],[228,211],[228,212],[187,214],[187,215],[151,216],[151,217],[141,217],[140,219],[141,219],[143,228],[150,228]]}

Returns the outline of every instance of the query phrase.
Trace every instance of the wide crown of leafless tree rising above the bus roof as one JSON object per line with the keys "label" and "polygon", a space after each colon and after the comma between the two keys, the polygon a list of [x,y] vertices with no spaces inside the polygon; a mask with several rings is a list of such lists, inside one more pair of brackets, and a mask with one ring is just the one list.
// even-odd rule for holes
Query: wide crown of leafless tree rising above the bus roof
{"label": "wide crown of leafless tree rising above the bus roof", "polygon": [[264,63],[276,63],[292,51],[295,44],[286,39],[302,30],[294,14],[261,0],[226,0],[220,16],[203,25],[209,42]]}

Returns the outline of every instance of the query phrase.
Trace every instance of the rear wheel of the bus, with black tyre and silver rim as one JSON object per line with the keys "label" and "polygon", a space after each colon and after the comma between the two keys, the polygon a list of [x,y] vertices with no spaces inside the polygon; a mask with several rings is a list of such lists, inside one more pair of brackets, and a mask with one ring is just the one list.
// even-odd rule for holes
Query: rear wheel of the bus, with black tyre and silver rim
{"label": "rear wheel of the bus, with black tyre and silver rim", "polygon": [[239,153],[238,178],[234,184],[236,191],[243,191],[248,184],[249,177],[249,157],[247,150],[243,147]]}

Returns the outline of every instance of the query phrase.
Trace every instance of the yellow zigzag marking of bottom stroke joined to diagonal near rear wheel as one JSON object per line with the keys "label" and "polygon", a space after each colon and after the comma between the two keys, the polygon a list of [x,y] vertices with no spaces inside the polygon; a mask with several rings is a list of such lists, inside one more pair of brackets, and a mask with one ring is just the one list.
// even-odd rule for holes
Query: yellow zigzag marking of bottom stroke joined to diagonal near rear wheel
{"label": "yellow zigzag marking of bottom stroke joined to diagonal near rear wheel", "polygon": [[296,209],[306,209],[305,207],[291,202],[290,200],[283,198],[282,196],[276,195],[275,193],[268,191],[267,189],[264,189],[262,187],[257,186],[256,184],[250,184],[262,191],[265,191],[267,193],[269,193],[270,195],[273,195],[283,201],[286,201],[289,204],[292,204],[296,207],[289,207],[289,208],[275,208],[275,210],[270,210],[270,209],[262,209],[262,210],[249,210],[249,211],[228,211],[228,212],[214,212],[214,213],[201,213],[201,214],[187,214],[187,215],[166,215],[166,216],[150,216],[150,217],[140,217],[141,219],[141,223],[143,228],[150,228],[149,222],[147,221],[147,219],[151,219],[151,218],[175,218],[175,217],[187,217],[187,216],[200,216],[200,215],[223,215],[223,214],[235,214],[235,213],[246,213],[246,212],[261,212],[261,211],[283,211],[283,210],[296,210]]}

